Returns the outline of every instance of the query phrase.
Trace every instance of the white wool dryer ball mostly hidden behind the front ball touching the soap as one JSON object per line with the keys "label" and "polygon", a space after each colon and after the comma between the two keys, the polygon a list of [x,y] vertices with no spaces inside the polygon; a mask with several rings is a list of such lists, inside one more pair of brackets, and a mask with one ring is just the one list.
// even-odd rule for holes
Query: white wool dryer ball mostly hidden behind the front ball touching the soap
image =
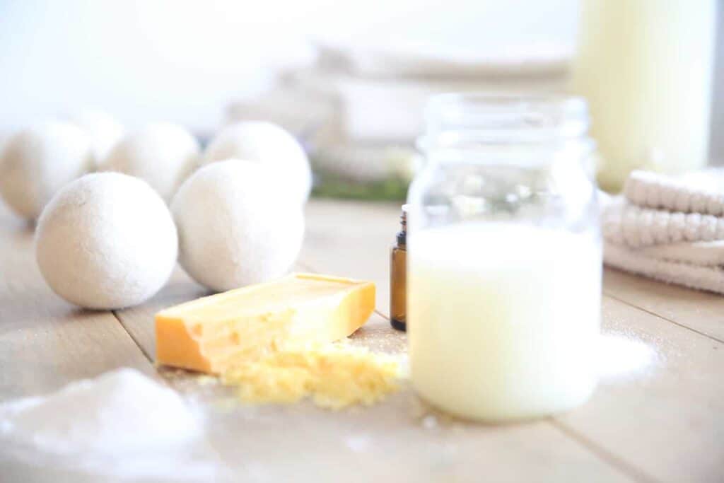
{"label": "white wool dryer ball mostly hidden behind the front ball touching the soap", "polygon": [[[271,187],[304,203],[312,188],[312,172],[304,148],[290,133],[271,122],[242,121],[225,127],[211,140],[204,164],[245,159],[274,170]],[[277,189],[278,188],[278,189]]]}

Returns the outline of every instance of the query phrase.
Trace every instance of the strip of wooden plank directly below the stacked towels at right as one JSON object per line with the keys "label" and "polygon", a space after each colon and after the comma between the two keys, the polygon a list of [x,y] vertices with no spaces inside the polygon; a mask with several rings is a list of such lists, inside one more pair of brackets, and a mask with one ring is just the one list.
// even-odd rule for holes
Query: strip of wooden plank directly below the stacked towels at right
{"label": "strip of wooden plank directly below the stacked towels at right", "polygon": [[606,269],[603,290],[620,301],[724,342],[724,297]]}

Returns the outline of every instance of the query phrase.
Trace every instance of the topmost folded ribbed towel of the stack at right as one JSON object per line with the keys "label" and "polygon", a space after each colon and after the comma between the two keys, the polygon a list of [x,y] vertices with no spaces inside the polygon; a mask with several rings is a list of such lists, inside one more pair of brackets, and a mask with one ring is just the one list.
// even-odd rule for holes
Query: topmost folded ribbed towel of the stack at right
{"label": "topmost folded ribbed towel of the stack at right", "polygon": [[631,203],[646,208],[724,216],[724,191],[701,186],[695,177],[673,178],[634,171],[626,180],[623,195]]}

